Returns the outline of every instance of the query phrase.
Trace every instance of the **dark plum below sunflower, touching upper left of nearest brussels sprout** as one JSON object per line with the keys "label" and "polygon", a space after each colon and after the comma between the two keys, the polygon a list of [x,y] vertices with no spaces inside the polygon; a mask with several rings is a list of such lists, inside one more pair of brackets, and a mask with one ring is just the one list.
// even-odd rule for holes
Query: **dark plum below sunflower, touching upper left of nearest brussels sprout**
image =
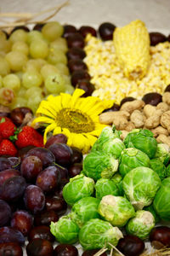
{"label": "dark plum below sunflower, touching upper left of nearest brussels sprout", "polygon": [[60,166],[71,165],[72,149],[64,143],[55,143],[48,148],[55,157],[55,162]]}

